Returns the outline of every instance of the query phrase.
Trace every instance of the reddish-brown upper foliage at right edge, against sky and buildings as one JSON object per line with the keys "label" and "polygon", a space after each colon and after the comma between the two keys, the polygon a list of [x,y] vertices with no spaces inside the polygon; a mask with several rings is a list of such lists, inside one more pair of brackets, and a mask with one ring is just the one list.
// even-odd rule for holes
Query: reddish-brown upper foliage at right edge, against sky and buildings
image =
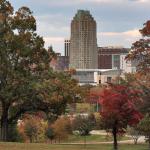
{"label": "reddish-brown upper foliage at right edge, against sky and buildings", "polygon": [[150,73],[150,20],[140,30],[143,38],[132,44],[127,60],[138,62],[137,71],[142,74]]}

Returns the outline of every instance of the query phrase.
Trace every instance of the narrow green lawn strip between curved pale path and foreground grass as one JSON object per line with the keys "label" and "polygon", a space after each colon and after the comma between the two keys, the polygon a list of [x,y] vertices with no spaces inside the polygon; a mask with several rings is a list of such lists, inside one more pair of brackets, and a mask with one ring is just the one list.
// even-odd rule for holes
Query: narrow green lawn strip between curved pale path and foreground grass
{"label": "narrow green lawn strip between curved pale path and foreground grass", "polygon": [[[119,137],[119,140],[130,140],[129,137]],[[84,137],[79,135],[71,135],[69,136],[68,140],[61,141],[61,143],[83,143]],[[106,136],[106,135],[89,135],[86,136],[87,142],[107,142],[107,141],[113,141],[112,136]]]}

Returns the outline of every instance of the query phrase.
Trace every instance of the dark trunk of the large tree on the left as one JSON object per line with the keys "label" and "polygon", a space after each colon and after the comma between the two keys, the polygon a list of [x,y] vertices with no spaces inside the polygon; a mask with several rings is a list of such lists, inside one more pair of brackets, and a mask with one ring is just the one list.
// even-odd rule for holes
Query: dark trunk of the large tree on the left
{"label": "dark trunk of the large tree on the left", "polygon": [[8,107],[2,106],[2,116],[1,116],[1,141],[8,140]]}

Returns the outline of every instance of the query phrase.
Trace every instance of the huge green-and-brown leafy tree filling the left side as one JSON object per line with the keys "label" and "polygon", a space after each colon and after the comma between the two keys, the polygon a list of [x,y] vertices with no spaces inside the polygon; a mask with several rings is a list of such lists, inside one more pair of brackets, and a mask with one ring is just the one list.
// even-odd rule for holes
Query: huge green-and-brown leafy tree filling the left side
{"label": "huge green-and-brown leafy tree filling the left side", "polygon": [[8,128],[24,113],[44,111],[48,118],[56,119],[68,102],[77,99],[80,90],[71,75],[50,68],[54,55],[37,35],[32,11],[21,7],[14,12],[7,0],[1,0],[1,140],[8,140]]}

